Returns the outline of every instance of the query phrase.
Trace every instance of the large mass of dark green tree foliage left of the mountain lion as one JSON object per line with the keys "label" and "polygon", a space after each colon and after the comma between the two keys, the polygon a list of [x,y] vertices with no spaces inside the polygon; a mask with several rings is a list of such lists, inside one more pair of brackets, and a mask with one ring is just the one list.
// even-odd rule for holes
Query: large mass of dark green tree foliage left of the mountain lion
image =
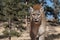
{"label": "large mass of dark green tree foliage left of the mountain lion", "polygon": [[6,19],[6,21],[8,20],[8,18],[10,17],[11,19],[14,18],[14,16],[18,19],[20,18],[25,18],[25,16],[28,13],[28,8],[32,5],[32,3],[29,3],[29,5],[26,5],[23,2],[21,2],[20,0],[2,0],[2,7],[1,7],[1,14],[3,14],[4,16],[2,20],[4,20],[4,18]]}

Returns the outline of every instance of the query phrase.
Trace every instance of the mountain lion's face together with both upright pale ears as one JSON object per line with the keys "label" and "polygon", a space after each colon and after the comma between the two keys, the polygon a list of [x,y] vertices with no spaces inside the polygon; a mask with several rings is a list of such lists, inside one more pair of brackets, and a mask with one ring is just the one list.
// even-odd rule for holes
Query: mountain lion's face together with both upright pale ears
{"label": "mountain lion's face together with both upright pale ears", "polygon": [[30,13],[31,13],[30,14],[31,20],[35,23],[40,23],[41,16],[42,16],[41,14],[43,13],[43,7],[40,7],[37,10],[36,10],[36,8],[34,9],[33,7],[30,7]]}

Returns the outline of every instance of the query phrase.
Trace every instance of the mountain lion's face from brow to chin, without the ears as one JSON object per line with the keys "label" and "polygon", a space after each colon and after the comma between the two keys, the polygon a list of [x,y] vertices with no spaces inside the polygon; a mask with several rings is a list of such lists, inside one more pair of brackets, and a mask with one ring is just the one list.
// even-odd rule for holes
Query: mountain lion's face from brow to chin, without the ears
{"label": "mountain lion's face from brow to chin, without the ears", "polygon": [[39,10],[35,10],[31,13],[32,21],[33,22],[40,22],[41,21],[41,13]]}

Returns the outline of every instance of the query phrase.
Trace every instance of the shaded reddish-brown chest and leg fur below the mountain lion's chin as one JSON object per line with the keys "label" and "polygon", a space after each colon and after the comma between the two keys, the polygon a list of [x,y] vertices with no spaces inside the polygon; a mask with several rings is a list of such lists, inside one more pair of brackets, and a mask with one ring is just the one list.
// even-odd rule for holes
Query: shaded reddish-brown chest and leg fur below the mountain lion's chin
{"label": "shaded reddish-brown chest and leg fur below the mountain lion's chin", "polygon": [[36,40],[39,26],[40,26],[40,24],[35,24],[34,22],[31,22],[31,30],[30,30],[31,40]]}

